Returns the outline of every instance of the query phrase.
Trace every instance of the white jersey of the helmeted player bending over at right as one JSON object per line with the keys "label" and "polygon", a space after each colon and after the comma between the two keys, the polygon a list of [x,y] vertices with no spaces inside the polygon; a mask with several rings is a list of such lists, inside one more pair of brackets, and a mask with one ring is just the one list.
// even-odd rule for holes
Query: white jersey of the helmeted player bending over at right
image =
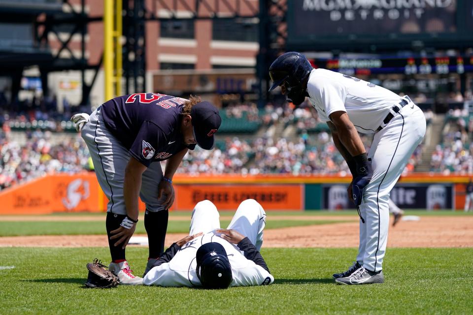
{"label": "white jersey of the helmeted player bending over at right", "polygon": [[370,82],[327,69],[314,69],[307,82],[312,106],[323,122],[343,111],[361,133],[374,133],[401,97]]}

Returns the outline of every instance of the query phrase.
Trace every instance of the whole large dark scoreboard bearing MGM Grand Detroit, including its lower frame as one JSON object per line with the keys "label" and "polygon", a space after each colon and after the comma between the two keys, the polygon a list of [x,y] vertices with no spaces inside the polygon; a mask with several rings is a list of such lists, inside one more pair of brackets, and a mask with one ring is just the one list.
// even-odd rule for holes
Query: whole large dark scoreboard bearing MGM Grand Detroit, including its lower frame
{"label": "whole large dark scoreboard bearing MGM Grand Detroit, including its lower frame", "polygon": [[287,11],[289,51],[448,49],[469,48],[473,43],[473,0],[287,2],[291,2]]}

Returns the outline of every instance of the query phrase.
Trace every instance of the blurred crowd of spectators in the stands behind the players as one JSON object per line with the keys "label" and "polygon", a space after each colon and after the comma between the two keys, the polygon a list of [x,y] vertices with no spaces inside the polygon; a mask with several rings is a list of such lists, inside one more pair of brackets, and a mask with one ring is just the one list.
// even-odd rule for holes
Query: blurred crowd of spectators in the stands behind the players
{"label": "blurred crowd of spectators in the stands behind the players", "polygon": [[[69,134],[61,141],[52,141],[51,135],[63,130],[61,122],[68,120],[73,111],[66,106],[66,111],[58,114],[50,110],[53,106],[54,99],[37,99],[23,103],[21,109],[15,111],[0,110],[0,189],[52,172],[74,173],[87,168],[88,150],[80,136]],[[247,136],[219,135],[214,150],[197,147],[190,151],[178,173],[349,174],[327,125],[320,121],[310,103],[304,102],[298,108],[289,104],[275,106],[268,103],[263,108],[258,108],[254,103],[238,104],[225,107],[222,112],[227,119],[260,120],[265,129]],[[428,109],[425,116],[429,123],[434,113]],[[432,154],[431,170],[473,173],[473,117],[460,108],[450,110],[448,116],[450,120],[443,130],[443,142]],[[11,137],[12,122],[33,124],[34,121],[49,122],[49,127],[27,128],[24,131],[27,137],[24,145]],[[274,132],[275,128],[279,133]],[[361,135],[361,138],[369,150],[372,135]],[[414,171],[421,160],[422,146],[419,146],[404,172]]]}

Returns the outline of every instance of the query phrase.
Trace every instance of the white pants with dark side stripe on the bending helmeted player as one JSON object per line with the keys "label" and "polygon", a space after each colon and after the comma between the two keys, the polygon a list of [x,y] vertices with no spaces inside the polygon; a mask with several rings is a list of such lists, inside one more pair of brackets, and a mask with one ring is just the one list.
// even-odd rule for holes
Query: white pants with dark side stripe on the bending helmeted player
{"label": "white pants with dark side stripe on the bending helmeted player", "polygon": [[413,102],[376,132],[368,153],[373,176],[360,205],[360,246],[357,261],[370,271],[382,270],[389,227],[389,193],[401,176],[407,161],[425,135],[425,117]]}

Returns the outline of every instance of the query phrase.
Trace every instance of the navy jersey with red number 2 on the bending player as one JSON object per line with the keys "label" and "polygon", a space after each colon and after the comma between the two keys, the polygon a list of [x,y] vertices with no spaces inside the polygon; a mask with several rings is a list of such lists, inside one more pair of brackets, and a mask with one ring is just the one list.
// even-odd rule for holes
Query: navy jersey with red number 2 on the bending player
{"label": "navy jersey with red number 2 on the bending player", "polygon": [[101,105],[103,122],[131,156],[149,166],[186,147],[180,132],[180,112],[187,99],[155,93],[137,93],[110,99]]}

